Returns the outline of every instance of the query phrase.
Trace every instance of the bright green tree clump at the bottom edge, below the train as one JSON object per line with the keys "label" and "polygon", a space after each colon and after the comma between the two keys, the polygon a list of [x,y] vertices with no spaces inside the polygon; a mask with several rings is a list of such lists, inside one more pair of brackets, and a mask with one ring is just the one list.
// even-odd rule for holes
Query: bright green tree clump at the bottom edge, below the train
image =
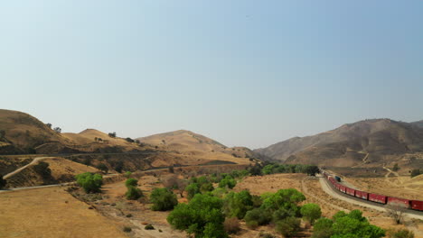
{"label": "bright green tree clump at the bottom edge, below the train", "polygon": [[353,210],[349,214],[340,211],[332,219],[319,218],[313,228],[313,238],[380,238],[385,231],[372,225],[362,216],[360,210]]}

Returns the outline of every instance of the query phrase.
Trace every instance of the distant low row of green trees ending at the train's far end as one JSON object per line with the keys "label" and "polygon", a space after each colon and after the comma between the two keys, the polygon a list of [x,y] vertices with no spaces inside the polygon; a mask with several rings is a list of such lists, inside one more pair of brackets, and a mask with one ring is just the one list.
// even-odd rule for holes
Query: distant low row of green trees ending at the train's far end
{"label": "distant low row of green trees ending at the train's far end", "polygon": [[320,170],[315,165],[269,163],[261,169],[261,172],[265,175],[275,173],[305,173],[310,176],[315,176]]}

